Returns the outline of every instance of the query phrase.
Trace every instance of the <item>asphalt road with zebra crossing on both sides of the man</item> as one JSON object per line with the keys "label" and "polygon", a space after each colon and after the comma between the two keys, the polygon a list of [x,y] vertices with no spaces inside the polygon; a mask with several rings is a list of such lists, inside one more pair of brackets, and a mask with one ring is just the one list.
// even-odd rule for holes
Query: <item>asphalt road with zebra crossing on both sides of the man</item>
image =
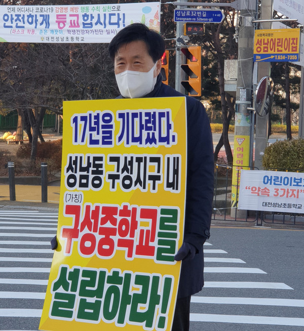
{"label": "asphalt road with zebra crossing on both sides of the man", "polygon": [[[0,210],[0,329],[37,330],[56,212]],[[303,230],[213,226],[191,331],[304,328]]]}

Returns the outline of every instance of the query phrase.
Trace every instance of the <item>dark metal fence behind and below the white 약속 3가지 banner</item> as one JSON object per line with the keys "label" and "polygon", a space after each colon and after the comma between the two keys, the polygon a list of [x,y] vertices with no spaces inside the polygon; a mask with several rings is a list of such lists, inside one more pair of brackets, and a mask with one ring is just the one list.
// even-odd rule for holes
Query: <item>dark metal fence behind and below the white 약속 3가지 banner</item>
{"label": "dark metal fence behind and below the white \uc57d\uc18d 3\uac00\uc9c0 banner", "polygon": [[[216,164],[215,182],[214,182],[214,197],[213,197],[213,214],[212,219],[226,222],[246,222],[252,225],[266,224],[281,224],[290,226],[304,226],[304,216],[293,213],[274,213],[263,211],[246,211],[238,210],[237,207],[232,207],[232,171],[234,166],[226,164]],[[241,174],[241,170],[236,167],[237,178]],[[286,170],[285,170],[286,171]],[[239,182],[239,181],[237,181]],[[237,187],[238,196],[239,187]],[[237,204],[238,205],[238,201]]]}

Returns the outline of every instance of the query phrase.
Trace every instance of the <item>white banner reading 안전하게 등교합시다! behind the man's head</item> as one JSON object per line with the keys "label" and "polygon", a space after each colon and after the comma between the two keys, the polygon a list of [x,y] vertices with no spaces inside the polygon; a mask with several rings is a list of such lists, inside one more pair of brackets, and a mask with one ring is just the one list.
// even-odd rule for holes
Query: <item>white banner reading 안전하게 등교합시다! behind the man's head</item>
{"label": "white banner reading \uc548\uc804\ud558\uac8c \ub4f1\uad50\ud569\uc2dc\ub2e4! behind the man's head", "polygon": [[0,42],[109,43],[137,22],[160,31],[160,3],[0,6]]}

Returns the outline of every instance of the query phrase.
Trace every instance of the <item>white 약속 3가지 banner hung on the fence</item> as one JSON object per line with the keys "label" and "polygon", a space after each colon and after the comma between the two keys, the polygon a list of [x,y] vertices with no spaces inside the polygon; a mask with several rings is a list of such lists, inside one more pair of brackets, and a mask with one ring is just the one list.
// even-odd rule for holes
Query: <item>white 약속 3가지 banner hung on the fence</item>
{"label": "white \uc57d\uc18d 3\uac00\uc9c0 banner hung on the fence", "polygon": [[304,213],[304,174],[241,170],[238,208]]}

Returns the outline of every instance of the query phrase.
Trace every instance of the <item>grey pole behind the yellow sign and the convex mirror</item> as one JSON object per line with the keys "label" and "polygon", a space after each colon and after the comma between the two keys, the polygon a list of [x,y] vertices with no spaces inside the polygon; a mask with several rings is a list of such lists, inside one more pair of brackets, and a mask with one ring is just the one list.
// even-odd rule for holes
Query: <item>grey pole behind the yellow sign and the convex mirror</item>
{"label": "grey pole behind the yellow sign and the convex mirror", "polygon": [[[261,1],[261,20],[270,20],[273,18],[273,0]],[[271,29],[271,22],[263,22],[263,29]],[[257,82],[264,76],[270,76],[270,62],[257,63]],[[268,120],[269,114],[260,117],[256,115],[255,122],[255,153],[254,153],[254,166],[262,170],[262,157],[268,142]]]}

